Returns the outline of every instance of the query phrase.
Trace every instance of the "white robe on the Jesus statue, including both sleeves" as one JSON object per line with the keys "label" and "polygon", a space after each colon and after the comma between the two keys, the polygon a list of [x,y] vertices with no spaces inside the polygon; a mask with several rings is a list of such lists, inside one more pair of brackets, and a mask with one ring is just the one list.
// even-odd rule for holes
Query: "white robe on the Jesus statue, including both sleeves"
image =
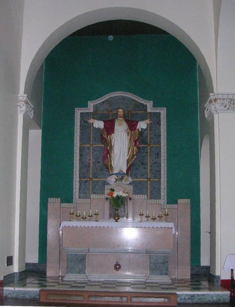
{"label": "white robe on the Jesus statue, including both sleeves", "polygon": [[[93,124],[94,128],[104,129],[103,120],[95,120]],[[139,121],[137,129],[145,129],[147,124],[145,120]],[[128,152],[128,138],[127,138],[127,125],[125,120],[116,119],[114,135],[113,135],[113,174],[126,173],[127,169],[127,152]]]}

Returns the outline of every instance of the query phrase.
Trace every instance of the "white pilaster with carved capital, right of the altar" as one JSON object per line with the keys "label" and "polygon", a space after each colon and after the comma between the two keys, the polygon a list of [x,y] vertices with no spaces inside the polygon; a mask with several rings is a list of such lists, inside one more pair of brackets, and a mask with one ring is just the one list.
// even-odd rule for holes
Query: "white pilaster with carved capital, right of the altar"
{"label": "white pilaster with carved capital, right of the altar", "polygon": [[[210,203],[210,258],[211,272],[221,278],[229,278],[222,270],[228,253],[234,253],[235,239],[233,216],[235,215],[235,192],[232,182],[235,175],[233,153],[235,150],[235,93],[210,94],[205,104],[205,117],[212,121],[214,139],[214,193]],[[211,168],[211,167],[210,167]],[[214,261],[216,259],[216,261]]]}

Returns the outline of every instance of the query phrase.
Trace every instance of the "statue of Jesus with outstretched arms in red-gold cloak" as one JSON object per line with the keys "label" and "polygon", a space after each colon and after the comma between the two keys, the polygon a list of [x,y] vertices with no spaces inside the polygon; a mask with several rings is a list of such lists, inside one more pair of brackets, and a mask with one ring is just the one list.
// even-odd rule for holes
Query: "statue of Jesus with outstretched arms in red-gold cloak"
{"label": "statue of Jesus with outstretched arms in red-gold cloak", "polygon": [[139,148],[140,129],[145,129],[150,120],[124,118],[124,109],[118,108],[116,118],[109,120],[88,119],[94,128],[101,128],[104,144],[103,164],[110,174],[129,174]]}

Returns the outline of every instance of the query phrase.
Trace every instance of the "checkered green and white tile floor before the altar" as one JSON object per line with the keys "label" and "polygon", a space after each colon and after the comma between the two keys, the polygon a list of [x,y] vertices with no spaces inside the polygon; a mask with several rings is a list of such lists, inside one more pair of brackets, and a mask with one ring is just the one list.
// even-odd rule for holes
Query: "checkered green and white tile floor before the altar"
{"label": "checkered green and white tile floor before the altar", "polygon": [[7,288],[27,289],[66,289],[95,291],[141,291],[141,292],[179,292],[179,291],[225,291],[224,288],[208,283],[207,278],[171,279],[171,282],[153,281],[75,281],[58,277],[46,277],[44,274],[28,273],[27,279],[7,285]]}

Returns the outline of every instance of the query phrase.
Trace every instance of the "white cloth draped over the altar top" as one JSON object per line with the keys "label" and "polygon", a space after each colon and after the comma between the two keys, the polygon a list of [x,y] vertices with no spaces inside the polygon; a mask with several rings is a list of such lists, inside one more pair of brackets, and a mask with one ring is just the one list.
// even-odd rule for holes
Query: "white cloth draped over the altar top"
{"label": "white cloth draped over the altar top", "polygon": [[60,230],[64,227],[107,227],[107,228],[172,228],[172,234],[175,233],[174,223],[171,222],[163,222],[163,221],[118,221],[114,222],[109,220],[101,220],[101,221],[63,221],[61,223]]}

